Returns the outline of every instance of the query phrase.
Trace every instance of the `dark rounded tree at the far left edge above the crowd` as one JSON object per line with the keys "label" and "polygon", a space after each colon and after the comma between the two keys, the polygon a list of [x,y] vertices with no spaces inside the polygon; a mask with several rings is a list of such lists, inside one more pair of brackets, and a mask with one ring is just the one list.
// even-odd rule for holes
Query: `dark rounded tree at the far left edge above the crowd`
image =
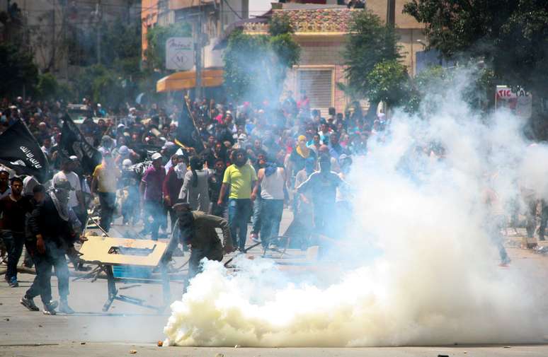
{"label": "dark rounded tree at the far left edge above the crowd", "polygon": [[0,96],[23,94],[23,88],[32,92],[38,82],[38,68],[33,56],[19,47],[0,43]]}

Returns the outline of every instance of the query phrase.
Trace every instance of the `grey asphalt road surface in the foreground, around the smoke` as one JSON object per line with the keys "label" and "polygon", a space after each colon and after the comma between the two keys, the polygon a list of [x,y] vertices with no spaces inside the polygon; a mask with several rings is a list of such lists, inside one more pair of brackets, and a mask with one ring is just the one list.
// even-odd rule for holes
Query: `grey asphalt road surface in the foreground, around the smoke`
{"label": "grey asphalt road surface in the foreground, around the smoke", "polygon": [[[282,230],[290,221],[285,213]],[[120,228],[118,230],[139,229]],[[513,259],[511,269],[535,267],[542,276],[548,271],[548,257],[534,254],[516,247],[518,238],[510,239],[508,252]],[[251,244],[251,242],[249,242]],[[285,269],[299,269],[306,261],[305,254],[291,250],[286,257],[273,254]],[[253,250],[250,254],[261,254]],[[178,257],[176,266],[185,257]],[[0,271],[4,267],[0,267]],[[183,271],[184,273],[184,271]],[[107,298],[104,279],[71,281],[70,305],[76,314],[46,316],[41,312],[30,312],[19,304],[33,280],[32,274],[20,274],[19,288],[9,288],[0,283],[0,356],[122,356],[136,351],[137,356],[210,356],[210,357],[266,357],[266,356],[548,356],[548,345],[531,346],[423,346],[397,348],[359,349],[256,349],[256,348],[206,348],[206,347],[159,347],[157,341],[164,339],[163,328],[169,317],[169,309],[157,313],[142,307],[115,301],[107,313],[101,311]],[[52,282],[54,297],[57,282]],[[545,279],[543,281],[546,281]],[[161,286],[155,284],[119,284],[127,288],[120,293],[147,300],[150,305],[161,305]],[[181,298],[181,281],[171,282],[171,300]],[[38,303],[38,298],[36,303]],[[547,312],[546,306],[540,312]],[[547,339],[548,342],[548,339]]]}

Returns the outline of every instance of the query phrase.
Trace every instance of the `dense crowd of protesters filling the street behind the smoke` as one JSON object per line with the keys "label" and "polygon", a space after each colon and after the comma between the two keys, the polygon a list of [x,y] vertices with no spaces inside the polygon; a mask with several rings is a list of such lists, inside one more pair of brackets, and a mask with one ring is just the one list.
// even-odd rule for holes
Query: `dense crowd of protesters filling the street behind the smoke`
{"label": "dense crowd of protesters filling the street behind the smoke", "polygon": [[[128,106],[115,118],[101,105],[86,99],[84,104],[89,115],[79,130],[102,158],[89,171],[81,158],[63,153],[62,119],[67,108],[62,103],[20,97],[0,104],[0,131],[24,121],[51,164],[48,182],[18,176],[9,168],[0,171],[6,281],[18,286],[16,267],[23,246],[24,264],[34,264],[37,273],[45,271],[21,299],[30,310],[38,310],[33,298],[40,295],[45,312],[53,314],[57,306],[72,312],[65,255],[75,269],[85,269],[74,245],[85,239],[81,233],[89,221],[108,235],[113,220],[121,216],[123,225],[143,223],[137,237],[130,238],[158,240],[168,238],[179,219],[186,228],[192,224],[207,232],[221,228],[224,252],[245,252],[249,239],[265,250],[276,248],[286,208],[292,210],[294,220],[282,235],[294,238],[298,247],[309,246],[314,237],[333,237],[351,216],[346,175],[358,156],[367,155],[368,141],[383,141],[389,131],[383,113],[370,118],[359,105],[345,112],[331,107],[322,113],[310,107],[304,93],[299,100],[286,93],[275,105],[181,98],[164,107]],[[195,127],[178,127],[184,110]],[[181,131],[199,136],[203,148],[181,143]],[[443,151],[438,151],[432,152],[442,158]],[[193,216],[175,209],[181,204]],[[184,223],[184,217],[190,223]],[[190,232],[185,229],[181,228]],[[185,242],[206,240],[204,232],[193,232]],[[218,257],[219,247],[204,250],[202,256]],[[199,260],[193,259],[193,271]],[[51,300],[52,267],[59,279],[58,305]]]}

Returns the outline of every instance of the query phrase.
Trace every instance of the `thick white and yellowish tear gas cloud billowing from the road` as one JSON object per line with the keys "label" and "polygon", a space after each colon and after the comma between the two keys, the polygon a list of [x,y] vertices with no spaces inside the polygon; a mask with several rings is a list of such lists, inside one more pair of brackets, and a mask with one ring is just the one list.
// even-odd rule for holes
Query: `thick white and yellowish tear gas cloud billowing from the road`
{"label": "thick white and yellowish tear gas cloud billowing from the road", "polygon": [[[372,136],[370,153],[355,159],[348,178],[353,219],[338,227],[336,252],[319,262],[329,279],[321,271],[296,279],[268,259],[239,259],[235,275],[206,262],[171,305],[166,343],[542,341],[547,324],[535,313],[537,292],[525,271],[498,267],[498,230],[489,226],[494,214],[520,201],[520,187],[538,187],[538,197],[547,197],[539,163],[547,162],[548,149],[527,147],[523,123],[509,112],[482,117],[455,98],[469,72],[452,81],[450,90],[433,88],[426,98],[435,110],[422,119],[396,111],[389,135]],[[431,143],[443,151],[430,150]],[[486,189],[498,203],[486,205]]]}

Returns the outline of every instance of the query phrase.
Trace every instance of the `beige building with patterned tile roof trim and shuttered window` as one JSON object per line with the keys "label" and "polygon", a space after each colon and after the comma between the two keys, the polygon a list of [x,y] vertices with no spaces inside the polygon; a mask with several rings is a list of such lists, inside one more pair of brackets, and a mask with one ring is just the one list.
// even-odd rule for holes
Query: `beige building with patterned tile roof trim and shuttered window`
{"label": "beige building with patterned tile roof trim and shuttered window", "polygon": [[[317,1],[321,2],[321,1]],[[295,30],[294,38],[301,46],[301,59],[288,73],[284,83],[286,93],[294,93],[295,99],[307,95],[310,106],[321,110],[323,115],[329,107],[342,111],[350,98],[346,96],[338,83],[346,83],[345,66],[342,52],[346,45],[348,23],[353,11],[360,8],[348,8],[345,5],[302,4],[290,2],[273,4],[268,16],[288,16]],[[387,18],[387,0],[369,0],[367,9],[382,19]],[[414,18],[402,13],[406,1],[395,1],[394,22],[399,35],[399,45],[404,63],[411,76],[416,74],[417,52],[424,49],[421,42],[423,25]],[[261,22],[244,23],[244,31],[250,35],[268,33],[268,18]],[[418,42],[420,40],[420,42]]]}

